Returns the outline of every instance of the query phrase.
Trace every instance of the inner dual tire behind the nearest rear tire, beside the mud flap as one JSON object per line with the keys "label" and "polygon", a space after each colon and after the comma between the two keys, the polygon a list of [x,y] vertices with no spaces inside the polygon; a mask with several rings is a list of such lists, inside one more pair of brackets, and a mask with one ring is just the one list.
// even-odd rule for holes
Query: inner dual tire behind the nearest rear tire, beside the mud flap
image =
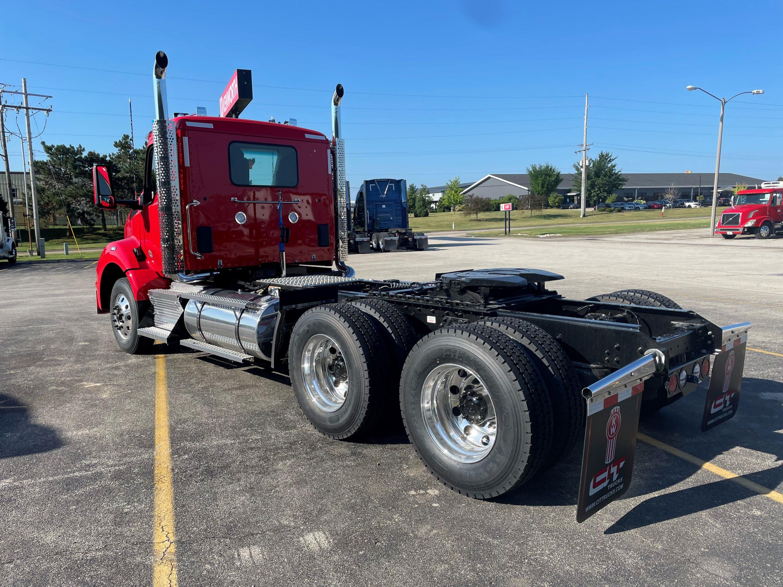
{"label": "inner dual tire behind the nearest rear tire, beside the mud flap", "polygon": [[553,466],[571,452],[582,437],[586,402],[582,397],[576,369],[557,340],[543,330],[518,318],[490,318],[476,324],[492,326],[507,334],[528,351],[530,361],[538,366],[552,402],[553,436],[545,467]]}

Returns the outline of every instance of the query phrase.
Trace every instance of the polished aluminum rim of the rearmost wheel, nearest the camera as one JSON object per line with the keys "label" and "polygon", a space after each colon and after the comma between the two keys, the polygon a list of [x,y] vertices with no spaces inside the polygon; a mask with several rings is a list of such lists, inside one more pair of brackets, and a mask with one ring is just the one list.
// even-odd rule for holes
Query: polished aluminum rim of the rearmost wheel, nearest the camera
{"label": "polished aluminum rim of the rearmost wheel, nearest the camera", "polygon": [[450,459],[475,463],[495,445],[492,396],[464,366],[447,364],[431,370],[421,391],[421,413],[432,440]]}

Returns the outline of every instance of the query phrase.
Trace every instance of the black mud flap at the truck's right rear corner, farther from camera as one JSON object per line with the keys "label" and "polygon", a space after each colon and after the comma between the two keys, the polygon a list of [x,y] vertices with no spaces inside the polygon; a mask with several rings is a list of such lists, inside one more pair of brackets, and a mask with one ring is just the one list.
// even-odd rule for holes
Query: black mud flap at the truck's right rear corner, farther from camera
{"label": "black mud flap at the truck's right rear corner, farther from camera", "polygon": [[[740,325],[737,325],[740,326]],[[742,389],[742,371],[745,369],[745,350],[748,343],[748,325],[744,331],[734,328],[734,336],[727,337],[723,329],[723,346],[713,362],[709,378],[707,399],[704,403],[702,432],[731,420],[739,407],[739,392]]]}

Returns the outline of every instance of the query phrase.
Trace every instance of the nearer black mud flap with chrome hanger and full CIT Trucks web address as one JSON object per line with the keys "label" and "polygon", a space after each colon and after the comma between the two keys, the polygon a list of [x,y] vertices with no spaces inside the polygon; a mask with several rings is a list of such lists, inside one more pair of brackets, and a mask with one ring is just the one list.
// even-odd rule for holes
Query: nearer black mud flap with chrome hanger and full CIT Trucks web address
{"label": "nearer black mud flap with chrome hanger and full CIT Trucks web address", "polygon": [[641,392],[662,362],[662,354],[645,355],[583,390],[587,423],[576,506],[579,524],[628,491]]}

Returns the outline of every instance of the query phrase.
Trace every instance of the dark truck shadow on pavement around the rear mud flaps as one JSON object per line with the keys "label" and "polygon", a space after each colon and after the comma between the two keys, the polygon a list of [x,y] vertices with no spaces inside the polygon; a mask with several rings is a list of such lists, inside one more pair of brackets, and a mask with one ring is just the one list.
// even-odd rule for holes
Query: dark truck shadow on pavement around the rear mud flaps
{"label": "dark truck shadow on pavement around the rear mud flaps", "polygon": [[[705,461],[729,453],[730,460],[719,459],[716,465],[734,473],[741,472],[738,466],[731,465],[737,455],[740,455],[746,467],[751,456],[761,457],[763,461],[749,468],[763,470],[742,477],[774,490],[783,481],[783,466],[778,463],[783,455],[783,435],[777,432],[783,429],[783,412],[779,409],[783,402],[783,384],[745,377],[737,416],[702,433],[700,426],[705,391],[705,386],[700,387],[680,402],[648,416],[641,421],[640,430]],[[561,463],[537,475],[516,492],[494,501],[518,506],[576,506],[582,448],[579,442]],[[754,452],[760,455],[754,455]],[[772,459],[774,463],[770,463]],[[622,501],[665,491],[699,470],[700,467],[693,463],[637,441],[633,480],[626,495],[620,499]],[[711,473],[707,475],[713,476]],[[735,481],[716,476],[713,478],[715,481],[646,499],[604,533],[636,530],[759,495]]]}

